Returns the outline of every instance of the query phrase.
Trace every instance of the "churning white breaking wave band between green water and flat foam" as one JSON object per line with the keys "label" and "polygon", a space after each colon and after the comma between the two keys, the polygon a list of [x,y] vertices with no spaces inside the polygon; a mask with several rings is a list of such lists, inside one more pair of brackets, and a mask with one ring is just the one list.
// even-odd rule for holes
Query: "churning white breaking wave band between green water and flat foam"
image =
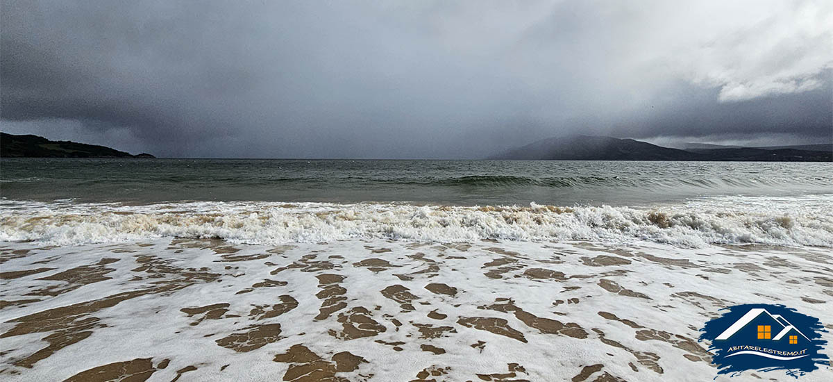
{"label": "churning white breaking wave band between green water and flat foam", "polygon": [[651,207],[190,202],[130,206],[0,201],[0,240],[47,244],[217,238],[238,244],[407,239],[652,241],[681,247],[833,247],[833,194],[721,197]]}

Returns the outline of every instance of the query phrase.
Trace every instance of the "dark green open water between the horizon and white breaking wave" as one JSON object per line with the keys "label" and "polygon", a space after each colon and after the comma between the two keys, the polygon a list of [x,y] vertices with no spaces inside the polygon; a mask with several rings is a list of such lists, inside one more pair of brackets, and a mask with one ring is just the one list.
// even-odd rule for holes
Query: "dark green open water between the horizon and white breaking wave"
{"label": "dark green open water between the horizon and white breaking wave", "polygon": [[63,159],[0,161],[5,199],[610,204],[833,192],[833,163]]}

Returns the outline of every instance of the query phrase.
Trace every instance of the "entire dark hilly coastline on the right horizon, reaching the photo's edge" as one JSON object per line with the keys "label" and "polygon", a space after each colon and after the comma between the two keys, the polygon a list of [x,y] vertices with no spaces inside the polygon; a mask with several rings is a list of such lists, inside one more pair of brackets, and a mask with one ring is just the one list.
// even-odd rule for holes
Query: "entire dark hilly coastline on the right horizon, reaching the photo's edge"
{"label": "entire dark hilly coastline on the right horizon, reaching the photo's edge", "polygon": [[[701,143],[709,147],[707,143]],[[797,148],[723,147],[666,148],[634,139],[576,135],[546,138],[511,149],[491,159],[528,160],[686,160],[686,161],[799,161],[831,162],[833,150]],[[816,145],[813,145],[815,147]],[[823,148],[825,145],[818,145]]]}

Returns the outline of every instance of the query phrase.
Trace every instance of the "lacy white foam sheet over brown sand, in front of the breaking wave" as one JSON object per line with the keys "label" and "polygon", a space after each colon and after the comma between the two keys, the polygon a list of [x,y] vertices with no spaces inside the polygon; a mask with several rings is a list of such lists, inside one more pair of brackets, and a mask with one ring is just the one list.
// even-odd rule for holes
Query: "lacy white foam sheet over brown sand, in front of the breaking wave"
{"label": "lacy white foam sheet over brown sand, in front of the breaking wave", "polygon": [[[711,380],[696,338],[722,307],[786,304],[833,329],[819,248],[161,238],[6,243],[0,261],[10,382]],[[759,378],[792,379],[716,380]]]}

